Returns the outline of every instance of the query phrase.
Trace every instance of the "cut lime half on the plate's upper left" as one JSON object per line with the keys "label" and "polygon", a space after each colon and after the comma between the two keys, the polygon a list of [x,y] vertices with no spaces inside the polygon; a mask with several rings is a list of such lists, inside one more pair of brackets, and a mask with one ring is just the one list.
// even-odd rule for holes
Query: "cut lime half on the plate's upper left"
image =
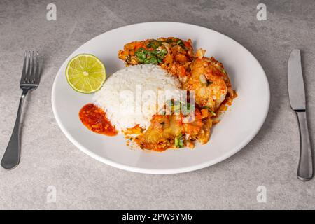
{"label": "cut lime half on the plate's upper left", "polygon": [[77,55],[66,66],[66,80],[73,90],[78,92],[96,92],[102,87],[105,79],[105,66],[94,55]]}

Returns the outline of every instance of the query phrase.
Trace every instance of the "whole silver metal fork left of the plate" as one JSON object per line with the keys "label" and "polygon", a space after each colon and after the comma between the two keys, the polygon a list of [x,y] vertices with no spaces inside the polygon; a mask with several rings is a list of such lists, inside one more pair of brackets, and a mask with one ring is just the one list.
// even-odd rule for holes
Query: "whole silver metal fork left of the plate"
{"label": "whole silver metal fork left of the plate", "polygon": [[29,90],[35,90],[39,84],[39,62],[38,52],[25,52],[22,76],[20,80],[20,89],[22,89],[22,96],[20,99],[18,115],[15,120],[13,132],[6,147],[6,152],[1,160],[1,166],[5,169],[13,169],[18,166],[20,162],[20,119],[22,114],[22,107]]}

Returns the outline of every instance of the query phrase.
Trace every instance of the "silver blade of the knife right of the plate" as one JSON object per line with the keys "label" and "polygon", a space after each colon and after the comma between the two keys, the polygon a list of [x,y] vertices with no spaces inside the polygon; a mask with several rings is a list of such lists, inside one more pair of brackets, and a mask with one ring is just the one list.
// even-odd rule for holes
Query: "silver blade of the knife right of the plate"
{"label": "silver blade of the knife right of the plate", "polygon": [[293,50],[288,59],[288,92],[293,110],[305,110],[305,90],[300,50]]}

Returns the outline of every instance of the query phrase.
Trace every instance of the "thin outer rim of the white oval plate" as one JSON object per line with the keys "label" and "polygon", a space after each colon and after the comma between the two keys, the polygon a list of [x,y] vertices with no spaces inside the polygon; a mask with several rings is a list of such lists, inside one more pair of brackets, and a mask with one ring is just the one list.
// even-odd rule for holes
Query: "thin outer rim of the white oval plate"
{"label": "thin outer rim of the white oval plate", "polygon": [[[244,139],[239,145],[234,147],[234,150],[229,151],[228,153],[225,153],[224,155],[222,155],[219,158],[216,158],[216,160],[211,160],[209,162],[203,162],[201,164],[198,165],[193,165],[193,166],[189,166],[189,167],[181,167],[181,168],[172,168],[172,169],[148,169],[148,168],[140,168],[140,167],[132,167],[129,165],[123,165],[120,164],[119,162],[114,162],[113,160],[109,160],[106,158],[103,158],[95,153],[93,153],[92,151],[90,151],[89,149],[85,148],[84,146],[82,146],[81,144],[78,143],[78,141],[76,141],[76,139],[74,139],[71,134],[66,131],[66,128],[64,127],[64,125],[62,124],[57,111],[56,111],[56,104],[55,104],[55,90],[56,90],[56,83],[57,83],[57,76],[59,73],[61,73],[62,67],[64,66],[64,64],[66,63],[66,61],[69,59],[69,57],[73,54],[73,52],[75,52],[76,50],[78,50],[78,48],[80,48],[81,46],[85,45],[86,43],[94,40],[94,38],[98,38],[99,36],[108,33],[110,31],[114,31],[116,29],[122,29],[124,27],[131,27],[131,26],[136,26],[136,25],[144,25],[144,24],[158,24],[158,23],[169,23],[169,24],[177,24],[177,25],[189,25],[189,26],[193,26],[193,27],[197,27],[197,28],[202,28],[202,29],[209,29],[211,31],[214,31],[218,34],[221,34],[227,38],[229,38],[231,41],[234,41],[237,45],[240,45],[241,48],[243,48],[246,52],[249,53],[249,55],[251,55],[253,57],[253,59],[255,59],[255,61],[258,63],[260,69],[262,70],[263,74],[265,75],[265,83],[267,83],[267,106],[265,108],[265,113],[264,116],[262,118],[262,120],[260,121],[260,124],[257,126],[258,128],[256,128],[255,132],[252,132],[252,134],[249,134],[248,137],[246,139]],[[260,64],[260,62],[258,61],[258,59],[256,59],[256,57],[247,49],[245,48],[243,45],[241,45],[241,43],[235,41],[235,39],[231,38],[230,36],[227,36],[225,34],[222,34],[221,32],[218,32],[214,29],[210,29],[208,27],[202,27],[200,25],[193,25],[193,24],[189,24],[189,23],[185,23],[185,22],[169,22],[169,21],[155,21],[155,22],[140,22],[140,23],[135,23],[135,24],[131,24],[131,25],[125,25],[123,27],[117,27],[115,29],[110,29],[109,31],[105,31],[102,34],[99,34],[97,36],[94,36],[94,38],[91,38],[90,40],[86,41],[85,43],[83,43],[82,45],[80,45],[78,48],[76,48],[76,50],[74,50],[71,55],[69,55],[69,57],[67,57],[64,62],[62,63],[62,65],[59,67],[57,74],[55,75],[55,79],[53,81],[52,84],[52,92],[51,92],[51,104],[52,104],[52,113],[55,116],[55,120],[57,121],[57,125],[59,126],[60,130],[62,130],[62,132],[64,133],[64,135],[66,136],[67,139],[69,139],[69,141],[71,141],[71,143],[76,146],[78,149],[80,149],[80,151],[83,151],[83,153],[86,153],[87,155],[89,155],[90,157],[94,158],[95,160],[98,160],[99,162],[102,162],[106,165],[110,165],[111,167],[116,167],[118,169],[124,169],[126,171],[130,171],[130,172],[137,172],[137,173],[142,173],[142,174],[179,174],[179,173],[185,173],[185,172],[193,172],[195,170],[198,169],[203,169],[206,167],[210,167],[211,165],[215,165],[218,162],[222,162],[223,160],[226,160],[228,158],[230,158],[232,155],[235,155],[237,152],[241,151],[242,148],[244,148],[249,142],[251,142],[255,136],[258,134],[258,132],[261,130],[262,125],[265,123],[265,120],[268,116],[269,113],[269,107],[270,107],[270,86],[269,86],[269,81],[267,78],[267,75],[265,73],[265,70],[263,69],[262,65]]]}

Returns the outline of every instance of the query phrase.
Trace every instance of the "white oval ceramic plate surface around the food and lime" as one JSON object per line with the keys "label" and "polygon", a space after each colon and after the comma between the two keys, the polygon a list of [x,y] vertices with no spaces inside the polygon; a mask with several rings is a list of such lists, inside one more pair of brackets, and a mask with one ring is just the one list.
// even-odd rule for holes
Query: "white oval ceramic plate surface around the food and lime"
{"label": "white oval ceramic plate surface around the food and lime", "polygon": [[[215,125],[208,144],[194,150],[183,148],[163,153],[131,150],[123,136],[95,134],[80,122],[78,111],[92,102],[92,94],[74,91],[66,81],[69,59],[80,53],[96,55],[111,74],[123,69],[118,50],[125,43],[147,38],[175,36],[191,38],[195,50],[207,50],[222,62],[238,97]],[[132,172],[174,174],[214,165],[246,146],[265,121],[269,109],[269,84],[262,66],[251,52],[228,36],[214,30],[177,22],[146,22],[120,27],[87,41],[74,51],[59,69],[52,87],[52,109],[62,132],[81,151],[101,162]]]}

